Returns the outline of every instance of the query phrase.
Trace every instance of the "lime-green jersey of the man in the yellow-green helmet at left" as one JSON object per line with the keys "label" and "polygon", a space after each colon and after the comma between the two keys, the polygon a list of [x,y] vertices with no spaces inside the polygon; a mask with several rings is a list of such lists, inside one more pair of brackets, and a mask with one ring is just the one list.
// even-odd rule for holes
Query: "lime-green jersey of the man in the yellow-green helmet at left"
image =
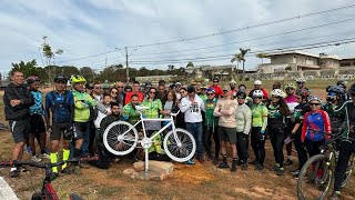
{"label": "lime-green jersey of the man in the yellow-green helmet at left", "polygon": [[97,101],[87,92],[72,91],[74,97],[74,121],[87,122],[90,119],[90,107],[95,107]]}

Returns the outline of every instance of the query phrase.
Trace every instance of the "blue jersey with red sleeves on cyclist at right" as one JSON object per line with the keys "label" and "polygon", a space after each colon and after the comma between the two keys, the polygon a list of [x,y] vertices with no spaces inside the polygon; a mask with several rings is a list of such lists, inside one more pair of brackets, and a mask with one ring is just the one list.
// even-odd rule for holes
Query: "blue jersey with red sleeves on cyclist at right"
{"label": "blue jersey with red sleeves on cyclist at right", "polygon": [[318,110],[315,113],[307,112],[304,116],[302,127],[302,141],[307,138],[311,141],[322,141],[328,139],[328,133],[332,132],[331,119],[324,110]]}

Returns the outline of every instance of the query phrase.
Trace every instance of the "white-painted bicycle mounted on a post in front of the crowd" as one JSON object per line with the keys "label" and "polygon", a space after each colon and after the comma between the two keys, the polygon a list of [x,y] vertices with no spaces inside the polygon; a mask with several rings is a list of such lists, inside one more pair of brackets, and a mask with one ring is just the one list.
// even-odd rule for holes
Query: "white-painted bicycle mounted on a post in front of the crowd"
{"label": "white-painted bicycle mounted on a post in front of the crowd", "polygon": [[[146,119],[143,118],[143,111],[149,107],[135,106],[135,110],[140,113],[140,120],[135,124],[126,121],[115,121],[111,123],[103,133],[103,143],[105,148],[113,154],[124,156],[134,150],[138,143],[141,143],[145,150],[145,170],[148,170],[148,149],[152,146],[153,139],[169,127],[171,131],[166,133],[163,140],[163,148],[165,153],[176,162],[185,162],[190,160],[196,150],[196,142],[193,136],[180,128],[175,128],[174,117],[178,113],[171,113],[169,119]],[[146,136],[144,122],[145,121],[165,121],[168,122],[161,130],[154,132],[151,137]],[[141,124],[143,130],[143,138],[139,138],[136,126]]]}

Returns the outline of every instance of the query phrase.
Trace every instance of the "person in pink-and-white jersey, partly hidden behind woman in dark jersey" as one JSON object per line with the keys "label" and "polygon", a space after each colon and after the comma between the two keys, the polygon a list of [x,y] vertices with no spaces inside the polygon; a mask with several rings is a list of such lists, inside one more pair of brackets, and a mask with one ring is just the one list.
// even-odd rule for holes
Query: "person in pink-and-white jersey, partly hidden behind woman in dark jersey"
{"label": "person in pink-and-white jersey, partly hidden behind woman in dark jersey", "polygon": [[[295,94],[295,86],[293,83],[287,83],[285,86],[286,90],[286,97],[285,102],[287,103],[290,114],[292,116],[294,113],[295,107],[298,104],[296,94]],[[291,136],[291,131],[293,129],[293,122],[291,121],[291,116],[286,118],[286,128],[285,128],[285,139]],[[286,151],[287,151],[287,160],[285,162],[285,166],[291,166],[293,163],[292,161],[292,142],[286,144]]]}

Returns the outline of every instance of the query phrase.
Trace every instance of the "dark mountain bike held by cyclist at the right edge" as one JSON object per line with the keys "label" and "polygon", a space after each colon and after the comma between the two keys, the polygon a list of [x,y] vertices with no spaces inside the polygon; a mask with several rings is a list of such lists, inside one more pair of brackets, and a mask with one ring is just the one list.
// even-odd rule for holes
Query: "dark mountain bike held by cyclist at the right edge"
{"label": "dark mountain bike held by cyclist at the right edge", "polygon": [[[338,159],[338,142],[349,141],[341,134],[332,134],[321,148],[321,154],[313,156],[301,169],[297,181],[298,199],[325,199],[329,189],[334,184],[334,174]],[[342,187],[349,181],[354,170],[355,156],[353,154],[348,161]]]}

